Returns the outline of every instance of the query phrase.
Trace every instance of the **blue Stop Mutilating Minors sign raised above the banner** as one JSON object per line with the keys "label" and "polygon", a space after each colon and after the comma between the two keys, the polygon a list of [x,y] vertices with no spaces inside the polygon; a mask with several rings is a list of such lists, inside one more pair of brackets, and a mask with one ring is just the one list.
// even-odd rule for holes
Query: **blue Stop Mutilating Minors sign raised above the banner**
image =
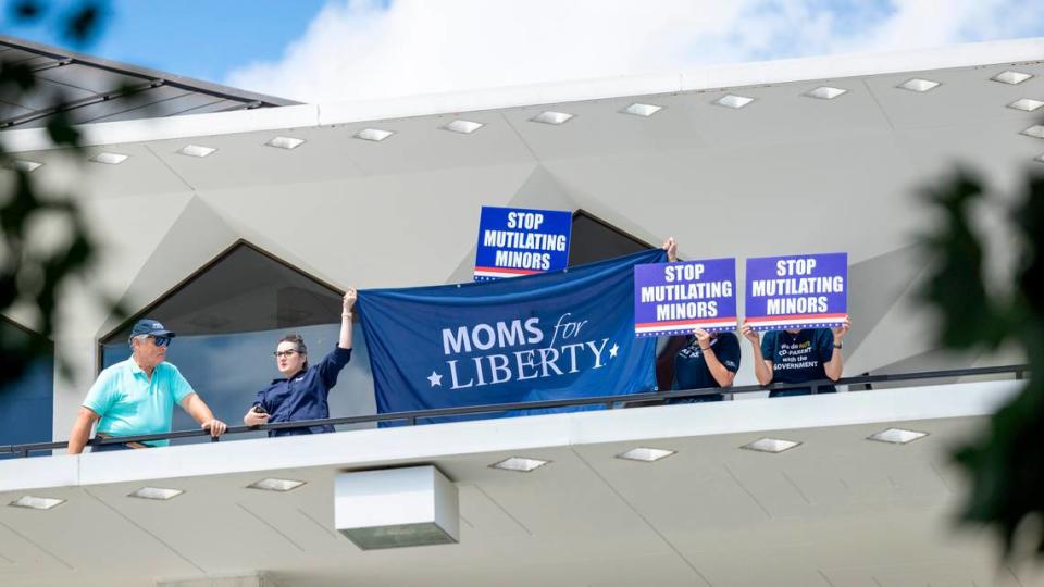
{"label": "blue Stop Mutilating Minors sign raised above the banner", "polygon": [[475,280],[566,268],[572,212],[482,207]]}

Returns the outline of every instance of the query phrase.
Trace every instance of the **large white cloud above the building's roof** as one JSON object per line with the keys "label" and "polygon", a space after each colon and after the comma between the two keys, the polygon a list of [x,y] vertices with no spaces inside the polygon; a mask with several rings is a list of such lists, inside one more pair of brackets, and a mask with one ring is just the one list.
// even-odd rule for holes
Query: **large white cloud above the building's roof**
{"label": "large white cloud above the building's roof", "polygon": [[1031,0],[332,1],[226,83],[307,102],[467,91],[1041,34]]}

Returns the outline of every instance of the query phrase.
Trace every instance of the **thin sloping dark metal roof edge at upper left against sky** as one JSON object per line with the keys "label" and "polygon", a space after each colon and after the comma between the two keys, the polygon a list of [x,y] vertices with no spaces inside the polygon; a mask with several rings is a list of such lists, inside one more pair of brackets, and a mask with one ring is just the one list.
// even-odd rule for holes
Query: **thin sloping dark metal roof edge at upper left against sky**
{"label": "thin sloping dark metal roof edge at upper left against sky", "polygon": [[58,60],[72,59],[75,63],[90,65],[94,67],[98,67],[98,68],[102,68],[102,70],[115,72],[115,73],[121,73],[124,75],[141,77],[142,79],[163,79],[167,83],[167,85],[175,85],[175,86],[184,87],[185,89],[199,91],[201,93],[209,93],[212,96],[231,98],[234,100],[241,100],[244,102],[263,102],[265,104],[276,105],[276,107],[299,105],[302,103],[294,100],[288,100],[286,98],[278,98],[275,96],[257,93],[252,91],[241,90],[238,88],[232,88],[228,86],[222,86],[221,84],[214,84],[211,82],[195,79],[192,77],[176,75],[169,72],[161,72],[159,70],[150,70],[148,67],[129,65],[127,63],[122,63],[119,61],[110,61],[110,60],[97,58],[94,55],[86,55],[86,54],[76,53],[73,51],[65,51],[58,47],[52,47],[41,42],[29,41],[29,40],[21,39],[17,37],[11,37],[9,35],[0,35],[0,45],[7,45],[14,49],[22,49],[24,51],[39,53],[41,55],[58,59]]}

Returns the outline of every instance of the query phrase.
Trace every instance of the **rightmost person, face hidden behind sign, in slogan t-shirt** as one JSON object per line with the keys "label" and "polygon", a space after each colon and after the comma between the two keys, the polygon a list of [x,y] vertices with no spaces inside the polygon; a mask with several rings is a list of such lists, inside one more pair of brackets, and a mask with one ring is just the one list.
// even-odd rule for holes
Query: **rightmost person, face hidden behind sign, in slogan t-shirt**
{"label": "rightmost person, face hidden behind sign, in slogan t-shirt", "polygon": [[[754,349],[754,374],[759,384],[799,384],[818,379],[836,382],[841,378],[845,366],[841,352],[842,339],[850,327],[852,321],[845,317],[836,328],[770,330],[760,339],[758,332],[744,322],[742,333]],[[820,394],[836,391],[832,385],[819,388]],[[778,389],[770,391],[769,397],[807,396],[811,392],[811,387]]]}

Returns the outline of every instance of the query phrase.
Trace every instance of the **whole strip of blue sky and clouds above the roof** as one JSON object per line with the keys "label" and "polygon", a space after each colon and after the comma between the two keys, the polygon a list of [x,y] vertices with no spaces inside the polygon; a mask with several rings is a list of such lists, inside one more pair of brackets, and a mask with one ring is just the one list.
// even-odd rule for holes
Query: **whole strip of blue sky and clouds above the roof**
{"label": "whole strip of blue sky and clouds above the roof", "polygon": [[[308,102],[1044,36],[1039,0],[110,0],[109,7],[101,38],[74,49]],[[63,45],[42,29],[3,30]]]}

